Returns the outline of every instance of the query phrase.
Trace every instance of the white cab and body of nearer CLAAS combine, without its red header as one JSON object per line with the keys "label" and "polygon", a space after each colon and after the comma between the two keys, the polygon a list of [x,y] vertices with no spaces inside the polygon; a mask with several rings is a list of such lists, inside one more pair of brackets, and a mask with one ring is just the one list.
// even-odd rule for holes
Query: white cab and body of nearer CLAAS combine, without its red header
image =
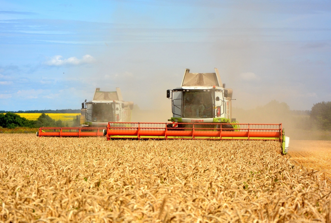
{"label": "white cab and body of nearer CLAAS combine, without its red header", "polygon": [[232,92],[222,84],[217,68],[215,73],[190,73],[190,69],[186,69],[181,86],[167,90],[167,98],[172,101],[172,117],[168,121],[228,123],[222,126],[233,128],[229,124],[236,121],[231,118]]}

